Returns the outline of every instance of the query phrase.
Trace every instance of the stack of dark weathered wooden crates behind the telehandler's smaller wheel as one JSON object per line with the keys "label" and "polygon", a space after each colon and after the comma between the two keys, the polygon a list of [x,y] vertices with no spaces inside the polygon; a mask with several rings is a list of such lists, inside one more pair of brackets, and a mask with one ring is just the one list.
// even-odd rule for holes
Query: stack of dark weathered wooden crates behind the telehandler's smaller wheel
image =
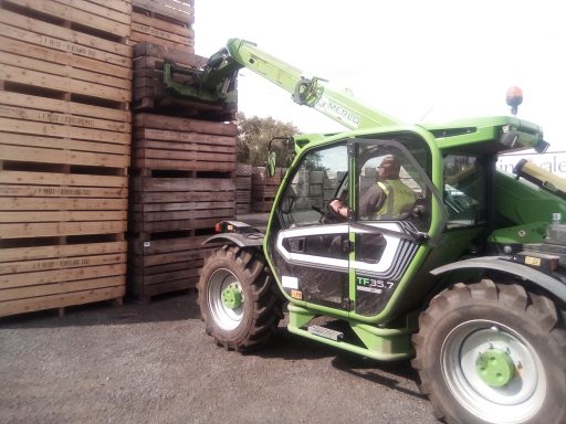
{"label": "stack of dark weathered wooden crates behind the telehandler's smaller wheel", "polygon": [[[134,0],[135,13],[146,7],[144,14],[159,20],[163,8],[179,2],[149,3],[153,11]],[[154,14],[156,3],[160,14]],[[164,88],[164,63],[182,66],[190,77],[206,59],[188,45],[148,41],[134,47],[128,269],[129,290],[144,301],[196,286],[205,256],[216,247],[203,242],[218,221],[235,215],[237,166],[237,127],[227,121],[233,112],[179,99]]]}

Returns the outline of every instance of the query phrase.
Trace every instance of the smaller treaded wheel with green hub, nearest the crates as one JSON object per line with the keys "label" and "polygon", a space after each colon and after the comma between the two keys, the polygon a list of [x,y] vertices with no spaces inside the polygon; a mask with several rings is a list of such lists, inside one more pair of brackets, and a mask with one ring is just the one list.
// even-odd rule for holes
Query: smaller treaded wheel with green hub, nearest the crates
{"label": "smaller treaded wheel with green hub, nearest the crates", "polygon": [[266,343],[283,317],[275,289],[262,258],[240,247],[217,250],[198,284],[207,333],[217,344],[237,351]]}

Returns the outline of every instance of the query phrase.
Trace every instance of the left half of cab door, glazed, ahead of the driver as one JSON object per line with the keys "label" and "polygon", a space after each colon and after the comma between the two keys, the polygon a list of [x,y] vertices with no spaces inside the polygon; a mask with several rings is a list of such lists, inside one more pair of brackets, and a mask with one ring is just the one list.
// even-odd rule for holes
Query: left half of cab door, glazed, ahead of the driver
{"label": "left half of cab door, glazed, ahead of the driver", "polygon": [[349,224],[328,201],[348,202],[346,140],[307,151],[275,204],[268,254],[284,292],[310,305],[350,310]]}

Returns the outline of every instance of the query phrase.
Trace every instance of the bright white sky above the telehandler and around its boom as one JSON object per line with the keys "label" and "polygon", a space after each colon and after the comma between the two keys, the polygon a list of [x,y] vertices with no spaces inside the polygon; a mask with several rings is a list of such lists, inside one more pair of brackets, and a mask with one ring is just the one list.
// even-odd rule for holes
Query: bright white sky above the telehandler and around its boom
{"label": "bright white sky above the telehandler and around its boom", "polygon": [[[208,57],[229,39],[252,41],[407,124],[509,115],[506,91],[520,86],[517,117],[564,151],[564,17],[554,0],[196,0],[195,50]],[[250,70],[238,84],[245,116],[345,129]]]}

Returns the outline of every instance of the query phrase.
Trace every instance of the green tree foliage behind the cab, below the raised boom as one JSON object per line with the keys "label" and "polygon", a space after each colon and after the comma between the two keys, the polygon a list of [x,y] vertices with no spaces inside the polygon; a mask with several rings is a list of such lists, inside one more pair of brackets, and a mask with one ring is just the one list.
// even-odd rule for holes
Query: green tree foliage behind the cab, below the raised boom
{"label": "green tree foliage behind the cab, below the raised boom", "polygon": [[[238,161],[255,167],[265,166],[268,149],[273,137],[292,137],[300,132],[291,123],[282,123],[268,118],[253,116],[247,118],[241,112],[237,115],[238,124]],[[289,167],[289,151],[281,142],[274,142],[272,149],[277,155],[277,167]]]}

